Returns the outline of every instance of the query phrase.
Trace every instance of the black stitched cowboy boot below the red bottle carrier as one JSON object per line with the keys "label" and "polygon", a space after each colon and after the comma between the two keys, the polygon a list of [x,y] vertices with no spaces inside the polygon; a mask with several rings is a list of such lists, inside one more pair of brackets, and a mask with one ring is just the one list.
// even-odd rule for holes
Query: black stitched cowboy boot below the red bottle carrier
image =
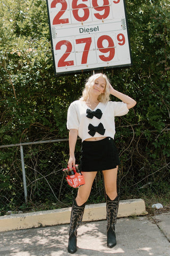
{"label": "black stitched cowboy boot below the red bottle carrier", "polygon": [[77,251],[77,229],[82,221],[85,205],[86,203],[78,206],[76,201],[73,201],[70,219],[69,244],[67,248],[69,253],[75,253]]}

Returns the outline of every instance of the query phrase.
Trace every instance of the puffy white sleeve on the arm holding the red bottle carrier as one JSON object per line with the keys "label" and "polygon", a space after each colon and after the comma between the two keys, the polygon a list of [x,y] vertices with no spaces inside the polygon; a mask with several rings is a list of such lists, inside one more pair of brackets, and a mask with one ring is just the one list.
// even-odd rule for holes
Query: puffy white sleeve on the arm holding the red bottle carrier
{"label": "puffy white sleeve on the arm holding the red bottle carrier", "polygon": [[67,129],[79,129],[79,118],[77,113],[77,105],[72,102],[67,111]]}

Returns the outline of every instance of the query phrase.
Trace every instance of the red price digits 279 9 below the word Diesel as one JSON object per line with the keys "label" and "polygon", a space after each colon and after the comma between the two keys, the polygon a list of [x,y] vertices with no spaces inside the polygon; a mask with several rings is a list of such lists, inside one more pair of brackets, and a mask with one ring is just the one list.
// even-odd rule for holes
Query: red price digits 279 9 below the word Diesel
{"label": "red price digits 279 9 below the word Diesel", "polygon": [[117,50],[122,47],[123,51],[126,38],[122,33],[117,35],[100,34],[77,37],[74,41],[62,38],[56,43],[55,54],[58,68],[116,61]]}

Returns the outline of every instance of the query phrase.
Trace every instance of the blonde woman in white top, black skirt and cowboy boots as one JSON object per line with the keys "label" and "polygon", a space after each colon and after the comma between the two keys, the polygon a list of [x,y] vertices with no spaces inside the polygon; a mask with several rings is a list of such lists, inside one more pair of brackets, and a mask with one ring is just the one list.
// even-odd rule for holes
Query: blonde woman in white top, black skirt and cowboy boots
{"label": "blonde woman in white top, black skirt and cowboy boots", "polygon": [[[120,101],[109,101],[110,94]],[[99,171],[103,172],[106,190],[107,246],[112,248],[116,245],[115,223],[119,204],[116,180],[120,159],[114,144],[114,117],[127,114],[135,104],[135,100],[113,89],[107,76],[100,73],[89,77],[82,97],[72,102],[68,109],[68,165],[75,166],[74,151],[79,136],[82,139],[80,166],[85,179],[85,185],[79,187],[72,205],[67,248],[69,253],[77,251],[77,229],[82,221],[92,183]]]}

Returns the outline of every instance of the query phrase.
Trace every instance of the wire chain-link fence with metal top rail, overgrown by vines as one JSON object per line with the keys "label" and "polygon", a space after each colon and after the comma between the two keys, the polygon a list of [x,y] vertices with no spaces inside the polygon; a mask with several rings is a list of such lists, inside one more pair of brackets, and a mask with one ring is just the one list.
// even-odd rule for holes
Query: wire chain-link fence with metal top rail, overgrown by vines
{"label": "wire chain-link fence with metal top rail, overgrown by vines", "polygon": [[[147,143],[145,138],[140,140],[138,137],[135,138],[134,133],[125,139],[117,137],[116,146],[121,158],[117,185],[118,190],[121,191],[121,199],[152,197],[154,194],[162,195],[164,199],[166,197],[169,202],[170,161],[167,158],[163,158],[159,164],[153,159],[151,161],[146,151]],[[67,166],[69,158],[67,139],[0,147],[2,215],[9,210],[26,212],[71,206],[72,199],[77,195],[77,189],[67,185],[62,171]],[[80,162],[80,151],[81,140],[78,140],[75,150],[77,164]],[[99,172],[88,203],[105,202],[103,184],[103,174]]]}

